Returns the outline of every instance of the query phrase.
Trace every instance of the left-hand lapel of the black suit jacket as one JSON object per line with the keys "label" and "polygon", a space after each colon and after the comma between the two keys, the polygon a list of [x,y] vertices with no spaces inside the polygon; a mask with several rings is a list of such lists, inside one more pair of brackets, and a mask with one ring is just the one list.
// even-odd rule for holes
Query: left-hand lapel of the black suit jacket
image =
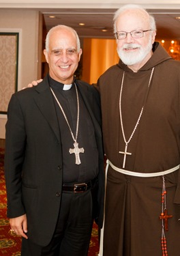
{"label": "left-hand lapel of the black suit jacket", "polygon": [[50,128],[55,133],[58,141],[60,141],[60,129],[57,119],[55,103],[50,92],[48,85],[48,79],[45,77],[44,81],[35,87],[37,94],[34,97],[34,100],[37,104],[37,107],[40,109],[42,115],[48,122]]}

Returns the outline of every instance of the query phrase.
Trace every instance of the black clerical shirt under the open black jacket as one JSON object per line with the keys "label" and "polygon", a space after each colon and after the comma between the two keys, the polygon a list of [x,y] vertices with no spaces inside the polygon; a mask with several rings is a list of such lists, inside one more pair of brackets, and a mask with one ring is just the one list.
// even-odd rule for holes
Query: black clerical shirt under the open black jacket
{"label": "black clerical shirt under the open black jacket", "polygon": [[[77,124],[77,98],[75,85],[72,83],[72,87],[70,89],[63,90],[64,85],[62,83],[53,80],[50,76],[48,78],[50,87],[54,91],[63,111],[65,112],[75,138]],[[78,85],[76,86],[78,88]],[[98,151],[93,123],[79,91],[78,98],[80,113],[77,143],[78,147],[83,147],[85,150],[84,153],[80,153],[80,165],[75,164],[75,154],[70,154],[69,152],[70,148],[74,148],[74,140],[72,139],[70,128],[67,126],[65,117],[54,98],[61,134],[64,183],[87,182],[89,180],[93,180],[98,173]]]}

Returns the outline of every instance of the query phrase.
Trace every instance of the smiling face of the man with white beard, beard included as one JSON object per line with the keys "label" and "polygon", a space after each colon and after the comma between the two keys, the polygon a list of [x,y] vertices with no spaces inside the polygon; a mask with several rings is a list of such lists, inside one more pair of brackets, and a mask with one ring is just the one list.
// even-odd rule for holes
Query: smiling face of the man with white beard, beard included
{"label": "smiling face of the man with white beard, beard included", "polygon": [[[150,20],[147,13],[142,10],[126,10],[119,15],[116,21],[117,31],[130,32],[134,30],[149,30]],[[120,59],[129,68],[141,68],[152,55],[152,44],[155,40],[155,31],[144,32],[142,38],[132,38],[130,33],[123,40],[117,40],[117,52]]]}

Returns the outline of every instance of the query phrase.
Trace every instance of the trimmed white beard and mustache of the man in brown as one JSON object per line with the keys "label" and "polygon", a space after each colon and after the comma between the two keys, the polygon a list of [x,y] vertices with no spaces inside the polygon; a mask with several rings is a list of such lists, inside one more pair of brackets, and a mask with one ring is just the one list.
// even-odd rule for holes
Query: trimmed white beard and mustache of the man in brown
{"label": "trimmed white beard and mustache of the man in brown", "polygon": [[[123,50],[128,48],[136,48],[136,52],[126,52]],[[149,40],[149,43],[145,48],[142,48],[139,44],[124,44],[123,47],[117,48],[117,53],[125,65],[131,66],[145,59],[151,49],[152,43],[151,40]]]}

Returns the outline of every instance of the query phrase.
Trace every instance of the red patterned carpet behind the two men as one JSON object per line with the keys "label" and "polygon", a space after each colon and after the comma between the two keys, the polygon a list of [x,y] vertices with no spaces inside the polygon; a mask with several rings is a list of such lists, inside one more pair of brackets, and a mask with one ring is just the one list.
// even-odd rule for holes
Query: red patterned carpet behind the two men
{"label": "red patterned carpet behind the two men", "polygon": [[[21,238],[10,232],[9,221],[6,217],[6,191],[3,171],[4,150],[0,148],[0,256],[20,256]],[[97,225],[93,224],[88,256],[97,256],[99,251]],[[70,255],[67,255],[70,256]]]}

